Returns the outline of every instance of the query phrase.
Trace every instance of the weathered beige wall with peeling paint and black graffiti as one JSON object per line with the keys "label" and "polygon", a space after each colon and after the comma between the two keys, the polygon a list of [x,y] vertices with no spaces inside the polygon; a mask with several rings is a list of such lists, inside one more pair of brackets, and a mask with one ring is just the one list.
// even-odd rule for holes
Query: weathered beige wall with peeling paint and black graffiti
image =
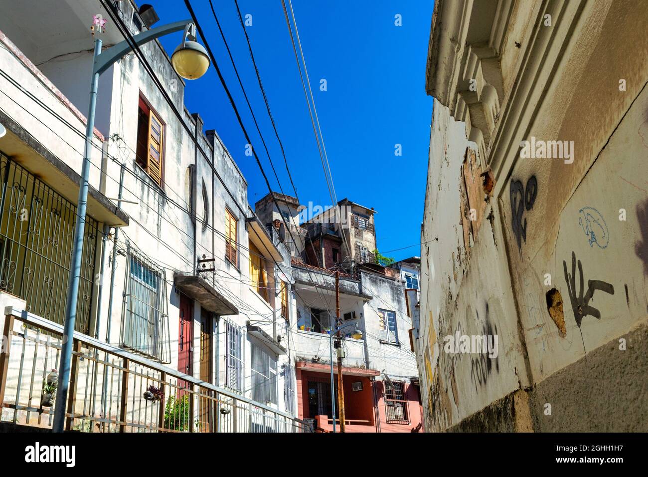
{"label": "weathered beige wall with peeling paint and black graffiti", "polygon": [[[503,38],[489,53],[499,99],[487,86],[476,97],[443,90],[443,75],[428,71],[437,81],[428,91],[452,103],[434,104],[422,228],[417,345],[428,430],[645,428],[648,41],[636,21],[645,8],[513,4],[509,23],[492,27]],[[474,25],[469,35],[487,21],[457,19]],[[476,71],[492,82],[484,56]],[[480,121],[478,108],[491,106],[492,121]],[[568,141],[571,156],[527,158],[521,141],[532,138]],[[477,356],[485,366],[476,368],[462,362],[474,355],[444,352],[459,325],[496,334],[498,359]]]}

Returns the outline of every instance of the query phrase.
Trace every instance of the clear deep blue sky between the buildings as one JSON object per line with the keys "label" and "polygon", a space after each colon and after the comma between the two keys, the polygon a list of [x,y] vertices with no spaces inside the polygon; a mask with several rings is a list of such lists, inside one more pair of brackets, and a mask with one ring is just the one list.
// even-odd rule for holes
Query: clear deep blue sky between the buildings
{"label": "clear deep blue sky between the buildings", "polygon": [[[189,18],[183,1],[151,3],[159,25]],[[209,2],[192,0],[191,4],[273,190],[279,191]],[[234,0],[213,0],[213,4],[281,186],[294,195]],[[243,16],[252,16],[248,36],[299,199],[305,205],[312,201],[330,206],[281,1],[239,0],[238,4]],[[293,0],[293,8],[338,200],[348,197],[375,208],[381,252],[418,244],[432,117],[432,98],[424,86],[434,3]],[[400,27],[395,26],[397,14],[402,18]],[[178,35],[161,42],[172,53]],[[321,79],[327,80],[327,91],[320,91]],[[251,204],[266,195],[268,188],[254,158],[245,155],[247,141],[213,67],[201,79],[188,82],[185,106],[202,116],[205,129],[218,132],[248,180]],[[402,145],[401,156],[394,154],[396,144]],[[420,255],[420,247],[386,255],[397,260]]]}

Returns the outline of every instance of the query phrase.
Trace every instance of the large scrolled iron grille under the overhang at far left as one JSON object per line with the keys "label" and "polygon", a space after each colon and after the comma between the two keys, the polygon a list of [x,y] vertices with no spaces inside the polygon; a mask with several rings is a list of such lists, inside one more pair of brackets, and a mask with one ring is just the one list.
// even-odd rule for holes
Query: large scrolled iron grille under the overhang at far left
{"label": "large scrolled iron grille under the overhang at far left", "polygon": [[[0,153],[0,289],[27,311],[62,324],[70,275],[76,206]],[[97,221],[86,215],[75,329],[90,333]]]}

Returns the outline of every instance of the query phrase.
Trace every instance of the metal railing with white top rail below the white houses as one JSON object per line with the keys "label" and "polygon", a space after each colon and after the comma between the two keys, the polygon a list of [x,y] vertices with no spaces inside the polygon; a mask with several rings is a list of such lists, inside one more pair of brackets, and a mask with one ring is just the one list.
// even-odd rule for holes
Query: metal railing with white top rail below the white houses
{"label": "metal railing with white top rail below the white houses", "polygon": [[[5,309],[0,421],[51,428],[47,384],[58,369],[63,326]],[[307,422],[79,332],[65,429],[81,432],[312,432]],[[154,386],[155,392],[148,392]]]}

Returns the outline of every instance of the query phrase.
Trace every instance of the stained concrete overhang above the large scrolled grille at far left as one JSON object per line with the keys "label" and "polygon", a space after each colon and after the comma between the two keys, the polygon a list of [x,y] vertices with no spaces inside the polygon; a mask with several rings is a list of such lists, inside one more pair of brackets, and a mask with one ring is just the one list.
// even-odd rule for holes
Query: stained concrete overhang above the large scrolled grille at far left
{"label": "stained concrete overhang above the large scrolled grille at far left", "polygon": [[[6,128],[6,136],[0,139],[0,151],[76,205],[81,176],[2,111],[0,123]],[[106,225],[128,225],[128,215],[93,186],[88,189],[87,215]]]}

